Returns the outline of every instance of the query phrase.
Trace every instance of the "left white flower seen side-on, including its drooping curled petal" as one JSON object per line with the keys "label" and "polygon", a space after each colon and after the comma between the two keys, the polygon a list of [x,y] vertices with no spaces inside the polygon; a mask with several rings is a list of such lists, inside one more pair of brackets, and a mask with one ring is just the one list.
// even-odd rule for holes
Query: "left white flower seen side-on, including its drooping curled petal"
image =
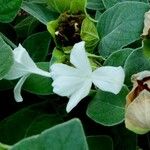
{"label": "left white flower seen side-on, including its drooping curled petal", "polygon": [[29,56],[28,52],[22,47],[21,44],[19,44],[19,46],[13,50],[13,55],[14,64],[12,65],[10,71],[4,78],[7,80],[13,80],[21,77],[21,79],[18,81],[14,88],[15,100],[17,102],[21,102],[23,101],[23,98],[20,94],[21,87],[27,79],[27,77],[31,73],[45,77],[50,77],[50,73],[38,68]]}

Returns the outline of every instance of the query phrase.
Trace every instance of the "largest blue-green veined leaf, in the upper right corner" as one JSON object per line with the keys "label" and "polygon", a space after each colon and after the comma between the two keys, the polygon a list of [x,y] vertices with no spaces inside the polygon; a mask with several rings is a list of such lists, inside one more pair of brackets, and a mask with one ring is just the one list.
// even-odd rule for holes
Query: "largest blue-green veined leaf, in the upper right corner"
{"label": "largest blue-green veined leaf, in the upper right corner", "polygon": [[149,8],[145,3],[122,2],[105,11],[97,24],[101,38],[99,53],[108,56],[138,40],[143,29],[144,13]]}

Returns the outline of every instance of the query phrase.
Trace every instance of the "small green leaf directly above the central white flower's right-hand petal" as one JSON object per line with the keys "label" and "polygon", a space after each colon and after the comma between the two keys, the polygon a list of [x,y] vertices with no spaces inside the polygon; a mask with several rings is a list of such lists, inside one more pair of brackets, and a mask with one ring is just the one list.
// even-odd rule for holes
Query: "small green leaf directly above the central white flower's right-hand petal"
{"label": "small green leaf directly above the central white flower's right-hand petal", "polygon": [[104,66],[124,66],[124,63],[127,59],[127,57],[130,55],[130,53],[133,51],[133,49],[125,48],[122,50],[118,50],[114,53],[112,53],[104,62]]}

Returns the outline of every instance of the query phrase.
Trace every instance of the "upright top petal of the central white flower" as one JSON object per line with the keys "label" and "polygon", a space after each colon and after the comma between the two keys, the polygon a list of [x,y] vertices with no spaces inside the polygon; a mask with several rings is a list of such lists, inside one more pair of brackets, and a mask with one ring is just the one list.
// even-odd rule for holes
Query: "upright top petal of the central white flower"
{"label": "upright top petal of the central white flower", "polygon": [[79,42],[73,46],[70,55],[70,62],[79,70],[90,74],[92,68],[85,51],[85,42]]}

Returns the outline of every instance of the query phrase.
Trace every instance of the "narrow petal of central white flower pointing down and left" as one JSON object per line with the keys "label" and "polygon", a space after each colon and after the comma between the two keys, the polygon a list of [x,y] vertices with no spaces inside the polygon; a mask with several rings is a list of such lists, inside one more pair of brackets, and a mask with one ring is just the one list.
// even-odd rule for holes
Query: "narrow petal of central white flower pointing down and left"
{"label": "narrow petal of central white flower pointing down and left", "polygon": [[91,86],[91,80],[86,80],[83,82],[80,88],[73,95],[71,95],[66,108],[67,112],[70,112],[83,98],[89,94]]}

